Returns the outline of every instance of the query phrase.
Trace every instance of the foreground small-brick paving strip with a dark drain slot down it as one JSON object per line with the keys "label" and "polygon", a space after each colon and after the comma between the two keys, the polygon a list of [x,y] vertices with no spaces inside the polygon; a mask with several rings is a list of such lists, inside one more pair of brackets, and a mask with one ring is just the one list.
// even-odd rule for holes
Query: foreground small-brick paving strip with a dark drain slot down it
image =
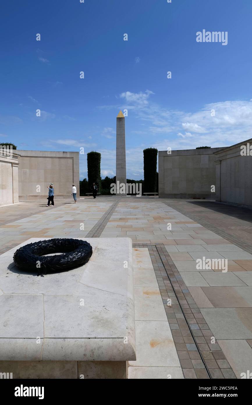
{"label": "foreground small-brick paving strip with a dark drain slot down it", "polygon": [[148,247],[184,377],[236,379],[218,343],[211,343],[214,335],[165,245],[133,243],[133,247]]}

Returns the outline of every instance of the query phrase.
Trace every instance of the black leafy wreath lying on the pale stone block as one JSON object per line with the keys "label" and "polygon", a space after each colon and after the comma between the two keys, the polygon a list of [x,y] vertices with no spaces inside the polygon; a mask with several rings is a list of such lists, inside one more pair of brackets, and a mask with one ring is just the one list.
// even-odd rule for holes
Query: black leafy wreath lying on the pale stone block
{"label": "black leafy wreath lying on the pale stone block", "polygon": [[[43,256],[62,252],[64,254]],[[49,239],[29,243],[14,253],[13,261],[19,269],[38,271],[38,275],[48,271],[66,271],[89,261],[93,253],[92,246],[80,239]]]}

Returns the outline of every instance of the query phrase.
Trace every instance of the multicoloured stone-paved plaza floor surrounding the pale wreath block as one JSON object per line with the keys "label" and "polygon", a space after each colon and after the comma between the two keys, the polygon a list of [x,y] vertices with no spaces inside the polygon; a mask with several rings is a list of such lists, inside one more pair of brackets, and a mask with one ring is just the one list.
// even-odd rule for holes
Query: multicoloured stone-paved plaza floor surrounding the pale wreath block
{"label": "multicoloured stone-paved plaza floor surrounding the pale wreath block", "polygon": [[[0,207],[0,254],[30,238],[132,239],[137,360],[128,362],[128,378],[252,371],[252,211],[116,196],[45,204]],[[208,259],[209,268],[197,266]]]}

